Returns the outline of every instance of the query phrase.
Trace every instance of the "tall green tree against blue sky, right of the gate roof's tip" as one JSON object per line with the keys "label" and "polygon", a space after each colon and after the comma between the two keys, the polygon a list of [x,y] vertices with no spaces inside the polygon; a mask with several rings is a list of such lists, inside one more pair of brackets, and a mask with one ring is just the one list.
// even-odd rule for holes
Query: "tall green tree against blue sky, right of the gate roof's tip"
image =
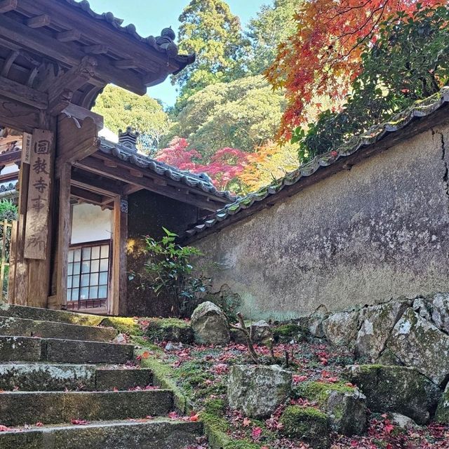
{"label": "tall green tree against blue sky, right of the gate roof's tip", "polygon": [[242,75],[239,60],[243,39],[239,18],[222,0],[192,0],[180,15],[179,48],[182,53],[196,53],[194,64],[173,76],[180,86],[177,108],[190,95],[218,82]]}

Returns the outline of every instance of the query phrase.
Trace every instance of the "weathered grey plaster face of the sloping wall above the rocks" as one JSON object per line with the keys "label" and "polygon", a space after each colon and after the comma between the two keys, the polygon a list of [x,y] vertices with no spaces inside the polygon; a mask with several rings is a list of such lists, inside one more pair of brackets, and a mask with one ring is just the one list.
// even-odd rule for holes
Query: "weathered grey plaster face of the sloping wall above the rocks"
{"label": "weathered grey plaster face of the sloping wall above the rocks", "polygon": [[222,264],[214,288],[227,284],[246,317],[257,319],[448,291],[444,142],[449,126],[196,241]]}

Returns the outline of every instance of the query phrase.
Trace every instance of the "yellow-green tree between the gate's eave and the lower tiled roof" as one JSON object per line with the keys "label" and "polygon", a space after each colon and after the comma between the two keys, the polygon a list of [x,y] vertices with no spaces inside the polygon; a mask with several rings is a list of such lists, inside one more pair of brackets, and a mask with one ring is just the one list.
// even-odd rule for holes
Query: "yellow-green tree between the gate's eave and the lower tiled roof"
{"label": "yellow-green tree between the gate's eave and the lower tiled roof", "polygon": [[114,133],[132,126],[140,133],[138,146],[144,152],[156,151],[161,136],[170,126],[161,104],[147,95],[139,96],[116,86],[106,86],[93,111],[105,117],[105,126]]}

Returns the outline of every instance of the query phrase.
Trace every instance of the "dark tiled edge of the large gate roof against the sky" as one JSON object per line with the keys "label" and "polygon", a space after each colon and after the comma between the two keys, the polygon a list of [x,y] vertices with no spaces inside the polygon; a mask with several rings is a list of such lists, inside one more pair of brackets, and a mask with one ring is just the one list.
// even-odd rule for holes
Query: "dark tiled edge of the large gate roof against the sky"
{"label": "dark tiled edge of the large gate roof against the sky", "polygon": [[[113,13],[102,13],[102,14],[95,13],[95,11],[93,11],[93,9],[91,8],[91,5],[89,4],[89,2],[87,0],[81,0],[81,1],[60,0],[60,1],[63,1],[65,3],[73,6],[74,8],[79,8],[82,11],[84,11],[85,13],[87,13],[88,15],[91,15],[92,18],[94,18],[96,20],[102,20],[103,22],[107,22],[107,24],[109,24],[111,27],[114,27],[117,31],[119,31],[123,34],[128,34],[129,36],[133,37],[133,39],[135,39],[136,41],[145,43],[148,46],[154,48],[154,50],[158,51],[159,53],[164,53],[164,54],[172,57],[173,59],[177,60],[177,62],[180,62],[182,67],[185,67],[185,65],[190,64],[190,63],[194,62],[194,60],[195,60],[195,55],[178,55],[177,54],[177,46],[173,42],[173,39],[170,39],[172,42],[170,42],[169,46],[167,46],[167,45],[160,45],[161,36],[157,36],[157,37],[140,36],[140,34],[138,34],[138,32],[135,28],[135,25],[130,23],[129,25],[126,25],[123,27],[122,26],[123,19],[116,18]],[[173,33],[173,37],[174,37],[174,33]]]}

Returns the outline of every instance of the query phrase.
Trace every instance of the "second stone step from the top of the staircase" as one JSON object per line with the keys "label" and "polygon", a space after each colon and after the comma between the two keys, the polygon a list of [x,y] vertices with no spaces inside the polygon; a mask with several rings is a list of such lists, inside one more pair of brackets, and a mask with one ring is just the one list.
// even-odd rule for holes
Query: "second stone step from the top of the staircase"
{"label": "second stone step from the top of the staircase", "polygon": [[117,331],[113,328],[79,326],[77,324],[58,323],[57,321],[37,321],[0,316],[0,335],[110,342],[116,337]]}

